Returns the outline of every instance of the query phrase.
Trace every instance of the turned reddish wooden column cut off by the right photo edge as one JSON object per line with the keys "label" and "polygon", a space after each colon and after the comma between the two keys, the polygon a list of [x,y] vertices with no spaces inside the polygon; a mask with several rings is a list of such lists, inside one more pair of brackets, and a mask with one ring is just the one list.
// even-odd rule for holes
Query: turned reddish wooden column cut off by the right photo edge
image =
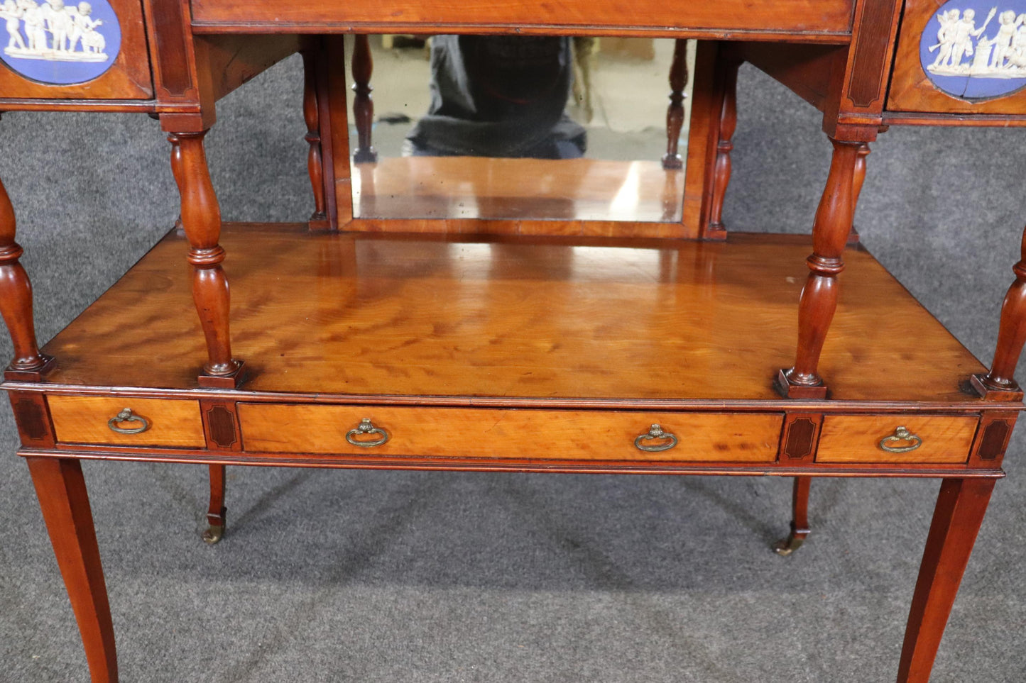
{"label": "turned reddish wooden column cut off by the right photo edge", "polygon": [[1001,305],[1001,322],[997,328],[997,348],[986,374],[971,377],[977,393],[991,400],[1019,401],[1022,389],[1016,381],[1016,364],[1026,342],[1026,230],[1023,232],[1019,263],[1012,268],[1016,280],[1009,287]]}

